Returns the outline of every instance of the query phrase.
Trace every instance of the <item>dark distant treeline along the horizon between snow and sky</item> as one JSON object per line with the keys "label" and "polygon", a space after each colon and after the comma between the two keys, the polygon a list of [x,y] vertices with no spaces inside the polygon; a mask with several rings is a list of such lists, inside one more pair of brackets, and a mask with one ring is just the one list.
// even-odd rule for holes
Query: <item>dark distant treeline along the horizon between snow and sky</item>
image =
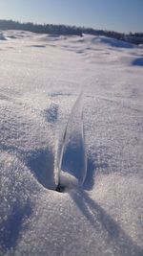
{"label": "dark distant treeline along the horizon between snow and sky", "polygon": [[13,20],[0,20],[0,30],[22,30],[30,31],[39,34],[52,35],[105,35],[112,38],[128,41],[134,44],[143,44],[143,33],[117,33],[106,30],[95,30],[92,28],[67,26],[67,25],[53,25],[53,24],[33,24],[31,22],[21,23]]}

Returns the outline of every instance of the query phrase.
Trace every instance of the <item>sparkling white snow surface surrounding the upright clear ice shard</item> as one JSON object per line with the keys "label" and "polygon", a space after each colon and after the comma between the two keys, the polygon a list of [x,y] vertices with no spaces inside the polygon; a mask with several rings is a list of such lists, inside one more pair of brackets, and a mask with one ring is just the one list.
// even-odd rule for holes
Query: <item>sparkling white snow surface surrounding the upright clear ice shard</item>
{"label": "sparkling white snow surface surrounding the upright clear ice shard", "polygon": [[[0,35],[0,255],[143,255],[142,66],[105,36]],[[87,177],[58,193],[81,91]]]}

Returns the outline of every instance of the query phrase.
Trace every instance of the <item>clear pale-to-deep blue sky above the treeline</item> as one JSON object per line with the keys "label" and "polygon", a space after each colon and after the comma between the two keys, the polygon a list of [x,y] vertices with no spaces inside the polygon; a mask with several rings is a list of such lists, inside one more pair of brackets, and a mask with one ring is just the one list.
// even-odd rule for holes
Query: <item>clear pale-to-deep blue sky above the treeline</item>
{"label": "clear pale-to-deep blue sky above the treeline", "polygon": [[143,0],[0,0],[0,19],[143,32]]}

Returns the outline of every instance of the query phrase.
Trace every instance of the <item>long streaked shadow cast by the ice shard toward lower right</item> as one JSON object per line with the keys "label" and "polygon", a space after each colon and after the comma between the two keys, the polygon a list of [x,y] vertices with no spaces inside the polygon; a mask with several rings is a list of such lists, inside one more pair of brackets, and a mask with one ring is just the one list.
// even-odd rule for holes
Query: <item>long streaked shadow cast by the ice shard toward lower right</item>
{"label": "long streaked shadow cast by the ice shard toward lower right", "polygon": [[115,255],[143,255],[143,250],[136,245],[124,230],[88,193],[79,189],[69,191],[79,210],[91,222],[99,234],[104,230],[105,240],[112,245]]}

